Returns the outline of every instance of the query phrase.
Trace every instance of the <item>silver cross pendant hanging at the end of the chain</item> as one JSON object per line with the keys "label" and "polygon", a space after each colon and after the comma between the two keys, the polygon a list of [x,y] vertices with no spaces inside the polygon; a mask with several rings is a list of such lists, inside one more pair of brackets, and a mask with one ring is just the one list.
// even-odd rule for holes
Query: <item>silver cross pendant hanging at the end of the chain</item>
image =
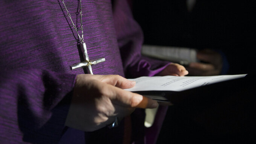
{"label": "silver cross pendant hanging at the end of the chain", "polygon": [[78,44],[78,47],[79,47],[79,49],[81,49],[81,52],[82,52],[82,55],[83,55],[83,61],[81,61],[79,63],[76,63],[74,65],[70,65],[70,69],[74,70],[76,68],[87,67],[90,74],[93,74],[93,70],[91,69],[91,65],[98,64],[99,62],[104,62],[105,58],[98,59],[96,61],[90,61],[85,43]]}

